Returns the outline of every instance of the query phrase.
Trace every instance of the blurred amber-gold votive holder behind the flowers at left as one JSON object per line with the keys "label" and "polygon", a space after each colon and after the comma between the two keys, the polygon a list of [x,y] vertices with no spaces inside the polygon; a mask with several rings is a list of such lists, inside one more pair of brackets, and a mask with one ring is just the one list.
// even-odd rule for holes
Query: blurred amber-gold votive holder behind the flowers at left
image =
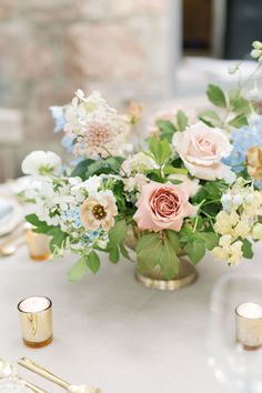
{"label": "blurred amber-gold votive holder behind the flowers at left", "polygon": [[26,242],[29,255],[33,261],[44,261],[50,258],[50,236],[47,234],[33,232],[31,228],[28,228],[26,230]]}

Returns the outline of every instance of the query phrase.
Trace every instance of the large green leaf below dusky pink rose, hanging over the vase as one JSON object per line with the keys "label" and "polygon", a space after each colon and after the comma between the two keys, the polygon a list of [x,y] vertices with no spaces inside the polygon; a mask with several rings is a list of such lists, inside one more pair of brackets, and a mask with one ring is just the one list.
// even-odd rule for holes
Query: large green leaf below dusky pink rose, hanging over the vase
{"label": "large green leaf below dusky pink rose, hanging over the vase", "polygon": [[167,280],[173,279],[180,265],[178,250],[179,240],[173,231],[164,231],[163,238],[160,233],[142,235],[137,245],[139,271],[147,274],[159,265]]}

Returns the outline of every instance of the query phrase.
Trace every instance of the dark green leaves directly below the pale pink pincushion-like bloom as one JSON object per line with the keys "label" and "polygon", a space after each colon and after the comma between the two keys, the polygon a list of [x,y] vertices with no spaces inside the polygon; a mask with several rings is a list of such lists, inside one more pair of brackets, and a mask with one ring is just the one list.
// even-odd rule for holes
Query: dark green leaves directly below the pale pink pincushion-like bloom
{"label": "dark green leaves directly below the pale pink pincushion-like bloom", "polygon": [[107,159],[99,159],[97,161],[87,159],[81,161],[75,167],[71,175],[80,177],[82,180],[87,180],[94,174],[118,174],[123,160],[124,159],[122,157],[108,157]]}

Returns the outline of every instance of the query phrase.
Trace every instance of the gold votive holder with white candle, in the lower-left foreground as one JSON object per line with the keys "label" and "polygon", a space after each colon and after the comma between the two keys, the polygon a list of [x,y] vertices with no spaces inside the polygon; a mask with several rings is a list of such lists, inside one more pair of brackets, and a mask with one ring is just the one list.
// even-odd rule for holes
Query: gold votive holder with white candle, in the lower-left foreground
{"label": "gold votive holder with white candle, in the lower-left foreground", "polygon": [[23,343],[29,347],[42,347],[51,343],[52,302],[46,296],[26,298],[18,303]]}

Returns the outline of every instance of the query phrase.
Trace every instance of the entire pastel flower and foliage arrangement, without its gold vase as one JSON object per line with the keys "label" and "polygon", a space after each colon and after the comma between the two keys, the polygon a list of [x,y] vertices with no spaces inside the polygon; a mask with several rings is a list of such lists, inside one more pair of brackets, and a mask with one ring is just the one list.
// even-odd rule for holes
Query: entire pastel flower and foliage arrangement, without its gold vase
{"label": "entire pastel flower and foliage arrangement, without its gold vase", "polygon": [[[43,151],[24,159],[23,172],[38,180],[26,192],[36,203],[27,220],[52,238],[54,256],[79,254],[70,280],[97,273],[101,252],[113,263],[121,254],[129,259],[130,229],[139,272],[158,268],[163,280],[175,279],[181,254],[193,265],[206,250],[229,265],[252,258],[252,240],[262,239],[262,117],[250,84],[260,74],[261,42],[251,56],[258,67],[235,89],[209,85],[216,110],[193,122],[183,111],[157,119],[137,151],[128,135],[139,128],[138,104],[120,114],[99,92],[78,90],[70,104],[51,108],[74,160],[62,165]],[[241,64],[230,72],[240,74]]]}

